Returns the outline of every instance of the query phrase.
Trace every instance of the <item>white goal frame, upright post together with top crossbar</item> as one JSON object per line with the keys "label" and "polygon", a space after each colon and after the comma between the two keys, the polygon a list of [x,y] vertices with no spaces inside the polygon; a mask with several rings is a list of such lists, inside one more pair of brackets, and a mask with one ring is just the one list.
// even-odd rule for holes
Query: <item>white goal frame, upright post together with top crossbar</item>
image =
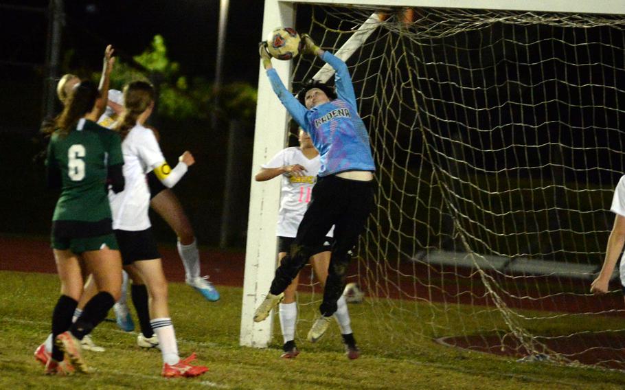
{"label": "white goal frame, upright post together with top crossbar", "polygon": [[[265,0],[262,36],[259,37],[259,41],[269,35],[275,27],[293,26],[297,3],[625,14],[623,0]],[[275,60],[273,67],[286,88],[291,89],[290,75],[293,62]],[[269,161],[274,154],[284,148],[288,135],[288,114],[273,93],[264,73],[260,65],[252,177],[262,163]],[[253,322],[252,317],[255,308],[269,291],[276,268],[275,224],[279,205],[280,181],[265,183],[251,181],[240,345],[262,348],[271,342],[273,316],[260,323]]]}

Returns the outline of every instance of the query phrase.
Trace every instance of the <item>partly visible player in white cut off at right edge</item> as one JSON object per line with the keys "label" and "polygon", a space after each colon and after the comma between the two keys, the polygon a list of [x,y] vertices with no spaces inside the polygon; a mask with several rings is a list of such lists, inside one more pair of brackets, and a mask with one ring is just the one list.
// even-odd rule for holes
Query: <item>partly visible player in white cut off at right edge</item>
{"label": "partly visible player in white cut off at right edge", "polygon": [[[606,257],[599,275],[593,280],[590,291],[596,295],[608,292],[608,284],[614,272],[614,267],[625,244],[625,176],[622,176],[614,190],[611,211],[616,214],[614,225],[606,246]],[[625,255],[624,255],[625,257]],[[620,279],[621,288],[625,293],[625,258],[621,257]]]}

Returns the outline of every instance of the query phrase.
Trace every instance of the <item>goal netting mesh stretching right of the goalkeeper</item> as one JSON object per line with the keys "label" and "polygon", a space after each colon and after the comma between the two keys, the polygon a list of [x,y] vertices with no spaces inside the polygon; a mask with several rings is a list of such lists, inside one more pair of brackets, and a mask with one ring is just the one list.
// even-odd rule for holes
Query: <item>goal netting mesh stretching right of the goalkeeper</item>
{"label": "goal netting mesh stretching right of the goalkeeper", "polygon": [[[379,319],[370,326],[402,348],[426,337],[625,368],[617,279],[607,297],[587,293],[624,172],[625,19],[297,12],[297,30],[333,52],[372,13],[384,19],[346,61],[378,168],[348,279]],[[297,58],[295,87],[322,65]],[[300,306],[316,308],[312,297]]]}

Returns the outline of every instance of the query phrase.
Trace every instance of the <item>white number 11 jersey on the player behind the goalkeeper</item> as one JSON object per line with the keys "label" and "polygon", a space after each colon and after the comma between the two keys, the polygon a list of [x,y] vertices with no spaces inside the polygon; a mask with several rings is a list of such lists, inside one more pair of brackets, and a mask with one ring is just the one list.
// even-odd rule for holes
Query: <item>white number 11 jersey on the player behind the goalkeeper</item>
{"label": "white number 11 jersey on the player behind the goalkeeper", "polygon": [[[297,236],[297,227],[302,222],[308,208],[312,187],[317,183],[317,173],[321,168],[319,154],[308,159],[301,148],[291,147],[280,150],[262,168],[280,168],[284,165],[302,165],[306,172],[303,176],[291,174],[282,175],[282,189],[280,190],[280,211],[278,212],[276,235],[280,237]],[[326,236],[332,237],[330,229]]]}

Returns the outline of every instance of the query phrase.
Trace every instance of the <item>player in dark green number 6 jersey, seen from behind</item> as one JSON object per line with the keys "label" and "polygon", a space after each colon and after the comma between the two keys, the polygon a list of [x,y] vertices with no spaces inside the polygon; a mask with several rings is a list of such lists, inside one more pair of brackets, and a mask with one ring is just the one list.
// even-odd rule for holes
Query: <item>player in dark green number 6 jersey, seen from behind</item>
{"label": "player in dark green number 6 jersey, seen from behind", "polygon": [[[52,248],[61,282],[61,296],[52,314],[55,345],[47,374],[87,371],[80,340],[106,317],[120,296],[122,259],[113,234],[107,196],[124,189],[120,137],[95,124],[101,94],[93,82],[73,87],[55,119],[46,159],[48,183],[60,187],[52,217]],[[98,294],[71,317],[82,294],[81,264],[93,273]],[[64,352],[69,362],[63,361]]]}

